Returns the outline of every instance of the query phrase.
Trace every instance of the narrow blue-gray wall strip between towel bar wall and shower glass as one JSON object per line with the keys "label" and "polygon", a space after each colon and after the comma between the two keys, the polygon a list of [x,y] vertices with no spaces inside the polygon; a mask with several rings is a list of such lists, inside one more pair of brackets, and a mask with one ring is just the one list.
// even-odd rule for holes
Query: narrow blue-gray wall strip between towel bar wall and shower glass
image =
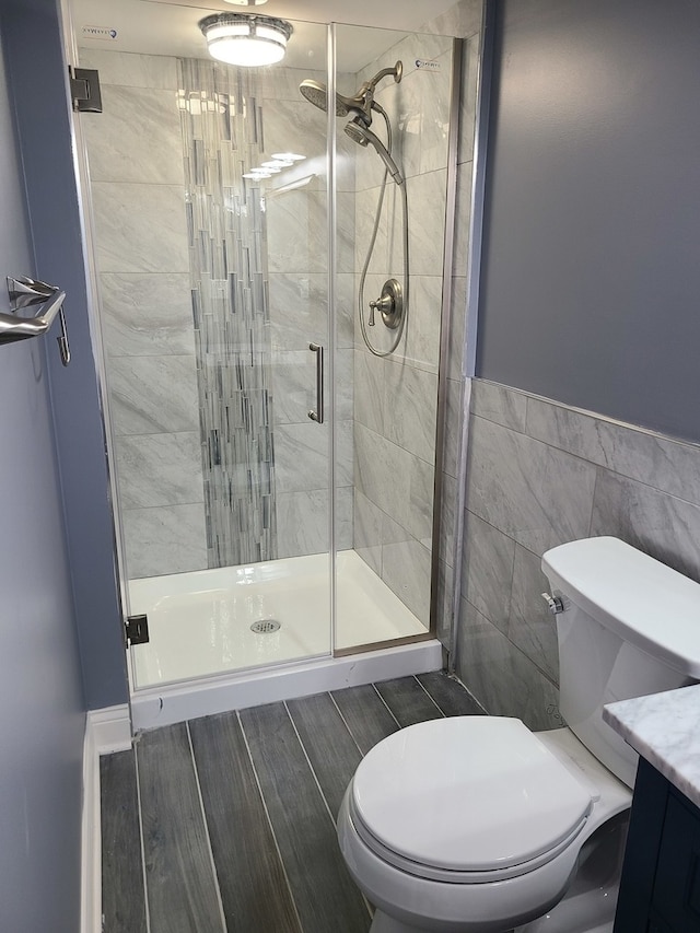
{"label": "narrow blue-gray wall strip between towel bar wall and shower glass", "polygon": [[[85,701],[127,701],[105,441],[90,342],[70,115],[56,0],[2,0],[36,270],[68,294],[73,355],[63,369],[52,336],[48,378],[70,555]],[[26,49],[32,49],[32,55]]]}

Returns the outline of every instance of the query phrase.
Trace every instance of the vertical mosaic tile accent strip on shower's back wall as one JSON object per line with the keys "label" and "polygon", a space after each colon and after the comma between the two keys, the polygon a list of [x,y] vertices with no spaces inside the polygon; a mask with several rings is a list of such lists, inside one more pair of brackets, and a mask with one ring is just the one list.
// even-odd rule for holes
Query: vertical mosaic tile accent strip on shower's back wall
{"label": "vertical mosaic tile accent strip on shower's back wall", "polygon": [[209,567],[277,557],[256,73],[178,59]]}

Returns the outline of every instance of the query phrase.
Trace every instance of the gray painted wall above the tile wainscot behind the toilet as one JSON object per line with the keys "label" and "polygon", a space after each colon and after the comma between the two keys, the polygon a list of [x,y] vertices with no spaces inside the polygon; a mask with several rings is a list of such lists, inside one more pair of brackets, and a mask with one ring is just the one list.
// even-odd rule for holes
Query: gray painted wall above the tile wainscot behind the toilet
{"label": "gray painted wall above the tile wainscot behind the toilet", "polygon": [[477,374],[700,440],[700,5],[495,5]]}

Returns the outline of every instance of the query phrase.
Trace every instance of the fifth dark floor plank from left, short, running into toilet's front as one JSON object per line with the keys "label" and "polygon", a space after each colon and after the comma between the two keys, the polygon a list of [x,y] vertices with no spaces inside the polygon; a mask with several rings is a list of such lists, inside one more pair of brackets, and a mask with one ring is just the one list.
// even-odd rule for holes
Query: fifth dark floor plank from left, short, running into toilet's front
{"label": "fifth dark floor plank from left, short, running into toilet's front", "polygon": [[337,818],[346,788],[362,755],[329,693],[289,700],[287,708],[318,778],[328,808]]}

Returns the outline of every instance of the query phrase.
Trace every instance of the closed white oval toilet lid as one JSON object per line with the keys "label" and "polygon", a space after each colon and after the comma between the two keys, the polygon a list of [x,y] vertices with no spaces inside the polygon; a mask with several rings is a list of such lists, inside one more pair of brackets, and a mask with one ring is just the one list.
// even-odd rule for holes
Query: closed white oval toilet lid
{"label": "closed white oval toilet lid", "polygon": [[520,720],[431,720],[375,745],[352,782],[354,818],[418,865],[493,872],[559,851],[590,790]]}

